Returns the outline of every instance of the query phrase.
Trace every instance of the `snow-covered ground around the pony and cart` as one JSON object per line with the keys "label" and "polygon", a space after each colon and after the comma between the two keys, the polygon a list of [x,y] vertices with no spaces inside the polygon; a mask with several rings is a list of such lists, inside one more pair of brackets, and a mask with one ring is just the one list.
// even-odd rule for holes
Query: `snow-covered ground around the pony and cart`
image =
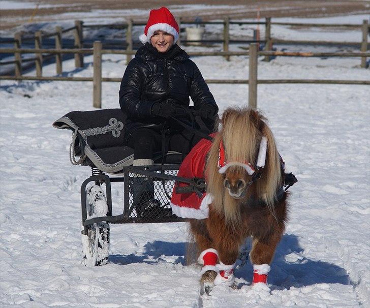
{"label": "snow-covered ground around the pony and cart", "polygon": [[[248,76],[247,57],[193,60],[206,79]],[[75,69],[74,60],[65,61],[64,74],[92,76],[92,62],[86,57],[85,68]],[[104,55],[103,76],[121,77],[125,63],[125,56]],[[55,65],[43,73],[54,75]],[[279,57],[259,61],[258,74],[370,78],[358,58]],[[246,85],[209,87],[221,112],[246,104]],[[80,265],[79,189],[90,170],[70,165],[71,134],[51,124],[71,110],[93,110],[92,88],[90,82],[1,82],[2,307],[369,306],[368,86],[258,86],[258,108],[299,182],[290,189],[290,221],[271,265],[271,291],[251,288],[248,263],[236,270],[237,290],[218,287],[211,297],[199,297],[198,269],[185,265],[185,223],[112,225],[109,263]],[[103,83],[103,108],[118,107],[118,88]],[[112,193],[118,213],[122,188],[117,184]]]}

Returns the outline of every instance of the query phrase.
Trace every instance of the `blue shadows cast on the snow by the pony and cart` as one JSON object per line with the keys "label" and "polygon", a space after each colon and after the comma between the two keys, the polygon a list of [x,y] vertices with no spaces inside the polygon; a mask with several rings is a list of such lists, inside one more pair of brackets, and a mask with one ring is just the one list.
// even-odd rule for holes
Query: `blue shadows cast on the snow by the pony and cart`
{"label": "blue shadows cast on the snow by the pony and cart", "polygon": [[[294,234],[285,234],[279,243],[275,257],[271,264],[271,271],[268,275],[268,283],[272,284],[272,289],[290,289],[291,287],[300,288],[315,284],[342,284],[349,285],[350,278],[347,271],[335,264],[323,261],[314,261],[303,256],[303,249],[299,245],[298,237]],[[158,264],[166,262],[162,256],[178,256],[175,264],[186,264],[186,242],[173,243],[164,241],[154,241],[144,246],[143,255],[110,255],[109,262],[121,265],[131,263]],[[289,262],[288,259],[294,260]],[[243,278],[246,284],[252,283],[253,266],[247,262],[244,267],[235,270],[237,278]],[[239,284],[238,288],[246,285]]]}

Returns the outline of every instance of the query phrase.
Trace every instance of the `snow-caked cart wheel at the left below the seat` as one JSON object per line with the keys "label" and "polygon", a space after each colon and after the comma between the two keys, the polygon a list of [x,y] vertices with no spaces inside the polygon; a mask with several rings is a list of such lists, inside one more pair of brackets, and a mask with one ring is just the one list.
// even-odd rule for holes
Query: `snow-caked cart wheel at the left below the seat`
{"label": "snow-caked cart wheel at the left below the seat", "polygon": [[[87,219],[102,217],[108,214],[108,204],[104,192],[98,185],[86,190]],[[81,224],[81,231],[84,227]],[[109,224],[99,222],[87,226],[86,234],[81,234],[82,264],[85,266],[101,266],[108,263],[109,256]]]}

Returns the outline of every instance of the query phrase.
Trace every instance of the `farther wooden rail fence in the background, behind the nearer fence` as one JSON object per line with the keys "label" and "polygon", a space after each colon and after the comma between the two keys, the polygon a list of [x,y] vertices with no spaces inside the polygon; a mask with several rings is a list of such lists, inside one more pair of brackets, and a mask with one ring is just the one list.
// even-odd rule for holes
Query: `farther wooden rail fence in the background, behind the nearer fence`
{"label": "farther wooden rail fence in the background, behind the nearer fence", "polygon": [[[181,20],[180,18],[177,20],[179,24],[179,28],[181,30],[181,25],[184,24],[195,24],[195,25],[205,25],[205,24],[222,24],[223,25],[223,39],[222,40],[200,40],[200,41],[182,41],[182,43],[190,43],[190,42],[221,42],[223,43],[223,51],[228,52],[229,51],[229,44],[234,42],[239,43],[265,43],[264,51],[270,51],[272,50],[273,43],[286,43],[286,44],[316,44],[316,45],[337,45],[337,44],[343,44],[343,45],[352,45],[352,46],[359,46],[359,49],[361,52],[366,52],[368,49],[368,33],[369,33],[369,24],[367,20],[363,20],[362,24],[320,24],[320,23],[289,23],[289,22],[272,22],[270,17],[266,17],[264,22],[247,22],[247,21],[230,21],[229,18],[225,18],[223,21],[199,21],[199,22],[193,22],[193,21],[185,21]],[[265,26],[265,38],[264,40],[230,40],[230,25],[232,24],[251,24],[251,25],[264,25]],[[83,29],[84,28],[101,28],[101,27],[114,27],[114,28],[127,28],[126,30],[126,51],[128,52],[126,54],[126,63],[128,64],[131,60],[131,55],[134,53],[130,53],[133,51],[133,38],[132,38],[132,30],[133,26],[143,26],[145,25],[144,22],[135,22],[131,19],[129,19],[126,23],[121,24],[93,24],[93,25],[87,25],[83,24],[81,20],[75,21],[75,26],[67,28],[67,29],[61,29],[60,27],[55,28],[54,33],[41,33],[36,32],[33,37],[23,39],[24,41],[29,40],[35,40],[35,48],[36,49],[42,49],[42,39],[47,37],[55,37],[55,49],[61,49],[61,36],[63,33],[72,31],[74,32],[74,48],[82,49],[83,48]],[[345,27],[345,28],[360,28],[362,32],[362,40],[361,42],[333,42],[333,41],[293,41],[293,40],[279,40],[271,38],[271,27],[272,25],[288,25],[288,26],[300,26],[300,27]],[[20,33],[16,33],[14,35],[14,48],[21,49],[22,45],[22,37]],[[178,41],[178,44],[180,44],[180,40]],[[48,51],[45,51],[45,53],[48,53]],[[75,67],[76,68],[82,68],[83,67],[83,55],[84,53],[75,53]],[[15,52],[14,53],[15,60],[14,61],[6,61],[0,63],[0,65],[5,64],[15,64],[15,75],[21,76],[22,75],[22,61],[35,61],[36,65],[36,71],[37,76],[42,76],[42,61],[46,57],[52,56],[52,54],[48,55],[42,55],[37,54],[35,58],[30,59],[23,59],[21,58],[20,53]],[[225,55],[226,59],[229,59],[229,55]],[[270,56],[266,55],[264,60],[269,61]],[[61,54],[55,55],[56,60],[56,66],[57,66],[57,74],[61,74],[62,72],[62,56]],[[366,57],[361,57],[361,67],[366,68]]]}

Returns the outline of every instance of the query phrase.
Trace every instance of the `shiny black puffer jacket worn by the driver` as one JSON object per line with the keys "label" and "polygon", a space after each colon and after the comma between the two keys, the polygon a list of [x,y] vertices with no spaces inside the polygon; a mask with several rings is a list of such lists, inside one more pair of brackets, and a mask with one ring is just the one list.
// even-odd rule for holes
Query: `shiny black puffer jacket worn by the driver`
{"label": "shiny black puffer jacket worn by the driver", "polygon": [[127,66],[119,90],[119,105],[127,115],[126,132],[165,119],[151,114],[152,105],[163,102],[188,107],[189,96],[196,109],[217,104],[196,64],[189,55],[173,45],[165,53],[146,43]]}

